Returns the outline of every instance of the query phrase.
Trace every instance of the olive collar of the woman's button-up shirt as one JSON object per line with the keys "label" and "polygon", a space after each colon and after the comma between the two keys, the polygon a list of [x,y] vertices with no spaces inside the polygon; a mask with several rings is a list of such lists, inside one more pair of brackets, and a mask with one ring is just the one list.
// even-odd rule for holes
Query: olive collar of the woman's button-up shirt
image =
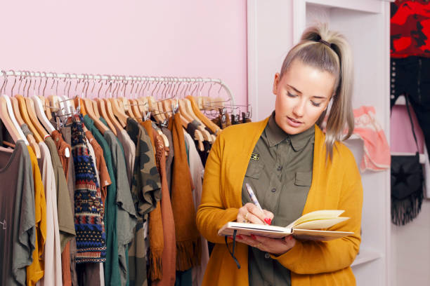
{"label": "olive collar of the woman's button-up shirt", "polygon": [[266,128],[266,136],[268,139],[269,147],[280,144],[285,139],[289,138],[294,151],[299,151],[304,149],[306,144],[308,144],[309,139],[315,134],[315,126],[313,125],[308,130],[301,132],[299,134],[289,135],[284,130],[282,130],[275,121],[275,111],[273,111],[271,117],[268,120],[268,125]]}

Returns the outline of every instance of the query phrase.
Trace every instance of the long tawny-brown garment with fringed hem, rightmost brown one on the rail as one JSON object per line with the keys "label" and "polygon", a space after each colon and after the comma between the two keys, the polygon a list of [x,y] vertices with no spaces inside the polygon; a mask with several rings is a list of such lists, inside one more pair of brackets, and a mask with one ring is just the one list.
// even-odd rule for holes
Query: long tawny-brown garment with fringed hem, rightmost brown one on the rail
{"label": "long tawny-brown garment with fringed hem, rightmost brown one on the rail", "polygon": [[180,114],[169,121],[175,149],[171,186],[171,207],[174,212],[176,233],[176,270],[185,271],[200,264],[200,234],[195,225],[193,182],[187,164],[185,139]]}

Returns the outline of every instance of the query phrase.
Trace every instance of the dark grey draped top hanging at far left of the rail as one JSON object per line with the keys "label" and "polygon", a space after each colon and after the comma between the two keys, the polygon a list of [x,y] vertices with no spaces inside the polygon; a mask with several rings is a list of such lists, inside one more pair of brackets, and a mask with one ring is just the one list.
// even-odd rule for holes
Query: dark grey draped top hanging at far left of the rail
{"label": "dark grey draped top hanging at far left of the rail", "polygon": [[32,264],[37,231],[30,160],[23,140],[12,152],[0,147],[0,285],[26,285],[26,268]]}

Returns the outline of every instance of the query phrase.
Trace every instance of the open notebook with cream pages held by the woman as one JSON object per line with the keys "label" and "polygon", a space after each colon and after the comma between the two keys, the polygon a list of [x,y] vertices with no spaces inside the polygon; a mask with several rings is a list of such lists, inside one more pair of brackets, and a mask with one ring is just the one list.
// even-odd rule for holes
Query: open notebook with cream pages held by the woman
{"label": "open notebook with cream pages held by the woman", "polygon": [[349,217],[339,217],[344,210],[317,210],[309,212],[299,217],[286,227],[268,226],[264,224],[249,224],[242,222],[228,222],[219,231],[219,236],[233,236],[237,230],[237,235],[249,236],[266,236],[269,238],[284,238],[285,236],[294,236],[299,240],[333,240],[350,236],[353,232],[348,231],[323,231],[335,224],[344,222]]}

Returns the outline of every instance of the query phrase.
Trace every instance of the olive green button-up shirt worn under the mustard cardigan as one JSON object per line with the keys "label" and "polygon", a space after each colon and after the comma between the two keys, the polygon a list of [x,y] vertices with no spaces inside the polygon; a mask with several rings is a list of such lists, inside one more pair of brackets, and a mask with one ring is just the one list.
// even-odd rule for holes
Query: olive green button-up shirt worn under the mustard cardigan
{"label": "olive green button-up shirt worn under the mustard cardigan", "polygon": [[[275,112],[249,159],[242,203],[252,203],[248,183],[261,207],[273,212],[272,225],[287,226],[301,216],[311,187],[315,127],[288,135],[274,116]],[[255,247],[249,247],[248,273],[249,285],[291,285],[289,269]]]}

